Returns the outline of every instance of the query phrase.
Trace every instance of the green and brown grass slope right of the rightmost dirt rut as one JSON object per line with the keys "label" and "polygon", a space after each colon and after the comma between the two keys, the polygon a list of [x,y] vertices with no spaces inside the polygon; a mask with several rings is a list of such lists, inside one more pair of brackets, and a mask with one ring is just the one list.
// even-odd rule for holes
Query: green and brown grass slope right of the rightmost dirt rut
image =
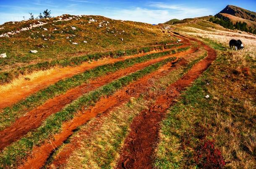
{"label": "green and brown grass slope right of the rightmost dirt rut", "polygon": [[[232,73],[241,63],[232,53],[220,51],[203,76],[184,91],[179,101],[167,111],[162,121],[160,141],[157,146],[155,168],[213,168],[204,150],[207,141],[214,141],[214,149],[221,152],[225,168],[254,168],[256,152],[255,70]],[[251,60],[244,60],[251,67]],[[241,85],[244,84],[244,85]],[[246,89],[243,87],[246,86]],[[206,95],[209,98],[205,98]],[[254,120],[253,120],[254,119]],[[199,156],[199,154],[204,154]],[[212,159],[222,159],[215,154]],[[200,159],[198,161],[198,159]],[[213,161],[213,160],[212,160]]]}

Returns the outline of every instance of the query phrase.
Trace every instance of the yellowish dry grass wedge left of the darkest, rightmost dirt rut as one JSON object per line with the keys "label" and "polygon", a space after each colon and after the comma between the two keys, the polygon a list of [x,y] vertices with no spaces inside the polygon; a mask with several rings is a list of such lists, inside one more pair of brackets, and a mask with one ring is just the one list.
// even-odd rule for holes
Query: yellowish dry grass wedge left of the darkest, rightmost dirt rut
{"label": "yellowish dry grass wedge left of the darkest, rightmost dirt rut", "polygon": [[[196,58],[203,58],[203,56],[205,56],[205,54]],[[196,62],[191,61],[190,63],[195,64]],[[151,105],[154,102],[153,99],[148,99],[150,95],[149,93],[164,91],[167,86],[177,81],[186,71],[187,69],[183,67],[171,71],[166,76],[163,76],[159,80],[157,80],[154,85],[149,88],[150,92],[143,93],[141,99],[137,101],[133,100],[127,104],[133,106],[139,105],[139,110],[136,108],[136,106],[126,107],[127,105],[125,105],[125,107],[121,106],[118,107],[117,110],[110,112],[111,115],[115,114],[115,116],[102,117],[103,119],[100,119],[100,121],[103,121],[103,124],[96,131],[91,131],[91,136],[84,136],[85,138],[83,138],[83,133],[84,131],[87,131],[87,127],[89,129],[94,128],[93,126],[95,124],[93,123],[93,121],[89,124],[82,126],[76,134],[73,134],[71,140],[73,138],[76,139],[76,136],[79,136],[80,141],[82,141],[84,146],[74,150],[71,157],[68,159],[67,167],[73,166],[75,168],[115,168],[115,163],[118,160],[118,154],[120,153],[123,141],[128,135],[129,129],[127,128],[129,128],[131,121],[133,121],[133,118],[136,116],[136,114],[139,114],[139,112],[145,109],[146,106]],[[145,105],[146,102],[147,104]],[[106,120],[105,118],[108,120]],[[99,119],[94,120],[98,121]],[[62,146],[62,148],[64,147],[65,145]],[[59,152],[63,151],[62,148],[58,149],[53,154],[51,160],[53,160]],[[52,161],[49,161],[47,165],[50,166],[51,163]]]}

